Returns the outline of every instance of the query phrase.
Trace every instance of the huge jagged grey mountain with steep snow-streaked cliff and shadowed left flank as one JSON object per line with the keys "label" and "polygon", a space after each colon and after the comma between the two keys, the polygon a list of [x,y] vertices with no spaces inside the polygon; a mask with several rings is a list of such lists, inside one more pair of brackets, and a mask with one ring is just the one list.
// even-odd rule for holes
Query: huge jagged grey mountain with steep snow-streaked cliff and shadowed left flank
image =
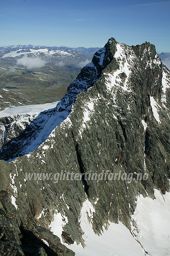
{"label": "huge jagged grey mountain with steep snow-streaked cliff and shadowed left flank", "polygon": [[[122,222],[143,250],[138,255],[149,255],[132,214],[139,194],[155,198],[154,189],[169,190],[169,86],[170,71],[154,45],[111,38],[56,108],[36,117],[2,117],[0,186],[23,226],[37,235],[40,225],[68,245],[85,246],[84,210],[94,233]],[[68,172],[82,178],[67,178]],[[50,177],[38,179],[40,173]]]}

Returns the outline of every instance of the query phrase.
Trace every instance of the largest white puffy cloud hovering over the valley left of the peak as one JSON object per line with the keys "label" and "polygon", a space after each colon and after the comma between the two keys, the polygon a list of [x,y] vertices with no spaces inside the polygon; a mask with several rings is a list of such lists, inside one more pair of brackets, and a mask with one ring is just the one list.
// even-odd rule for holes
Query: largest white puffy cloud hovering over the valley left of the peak
{"label": "largest white puffy cloud hovering over the valley left of the peak", "polygon": [[26,68],[32,67],[44,67],[47,61],[42,60],[40,57],[27,57],[23,56],[20,59],[17,59],[18,66],[25,66]]}

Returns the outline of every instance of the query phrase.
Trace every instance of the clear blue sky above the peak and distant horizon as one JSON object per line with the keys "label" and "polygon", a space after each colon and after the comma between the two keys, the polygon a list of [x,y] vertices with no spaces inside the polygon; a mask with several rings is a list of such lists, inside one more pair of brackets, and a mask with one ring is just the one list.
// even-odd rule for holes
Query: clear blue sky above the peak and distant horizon
{"label": "clear blue sky above the peak and distant horizon", "polygon": [[103,47],[110,37],[148,41],[170,52],[170,1],[6,0],[0,4],[0,46]]}

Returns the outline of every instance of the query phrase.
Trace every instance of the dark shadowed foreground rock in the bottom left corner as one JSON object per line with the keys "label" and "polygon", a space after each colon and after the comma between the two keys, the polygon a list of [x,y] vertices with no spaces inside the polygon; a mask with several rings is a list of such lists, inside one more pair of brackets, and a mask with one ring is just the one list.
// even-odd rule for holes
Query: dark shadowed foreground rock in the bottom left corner
{"label": "dark shadowed foreground rock in the bottom left corner", "polygon": [[[14,205],[9,200],[8,192],[0,191],[0,255],[75,255],[49,230],[29,223],[25,225],[28,225],[29,230],[24,229]],[[53,249],[42,241],[44,237],[50,241]]]}

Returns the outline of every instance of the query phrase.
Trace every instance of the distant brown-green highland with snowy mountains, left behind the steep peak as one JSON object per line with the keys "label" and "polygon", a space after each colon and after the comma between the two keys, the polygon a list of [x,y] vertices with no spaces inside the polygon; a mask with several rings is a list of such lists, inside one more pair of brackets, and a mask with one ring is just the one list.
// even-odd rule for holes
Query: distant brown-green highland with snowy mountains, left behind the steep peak
{"label": "distant brown-green highland with snowy mountains, left behind the steep peak", "polygon": [[0,110],[59,101],[100,48],[0,47]]}

